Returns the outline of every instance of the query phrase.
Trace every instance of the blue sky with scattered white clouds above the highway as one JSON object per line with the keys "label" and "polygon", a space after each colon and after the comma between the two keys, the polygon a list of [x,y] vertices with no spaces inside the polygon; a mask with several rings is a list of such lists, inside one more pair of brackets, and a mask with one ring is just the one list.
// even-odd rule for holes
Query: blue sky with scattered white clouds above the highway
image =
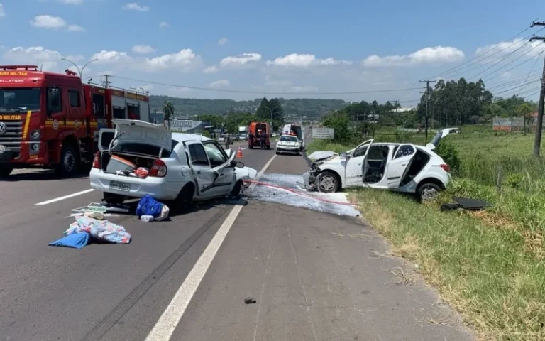
{"label": "blue sky with scattered white clouds above the highway", "polygon": [[364,92],[413,88],[419,79],[496,44],[489,53],[495,55],[444,77],[486,76],[487,86],[502,96],[535,99],[533,90],[539,90],[534,76],[542,61],[529,82],[524,75],[543,58],[542,47],[522,39],[539,28],[506,40],[540,15],[545,18],[543,1],[0,0],[0,5],[0,63],[62,71],[70,64],[61,58],[78,65],[98,59],[86,67],[85,78],[99,81],[107,72],[117,76],[116,86],[145,87],[152,94],[398,99],[409,106],[418,90]]}

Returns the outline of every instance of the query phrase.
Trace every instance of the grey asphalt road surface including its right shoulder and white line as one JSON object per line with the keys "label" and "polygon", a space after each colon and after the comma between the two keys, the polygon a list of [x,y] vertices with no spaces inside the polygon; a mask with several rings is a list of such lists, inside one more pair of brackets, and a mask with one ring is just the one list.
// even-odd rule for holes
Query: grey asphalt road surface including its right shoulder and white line
{"label": "grey asphalt road surface including its right shoulder and white line", "polygon": [[[274,151],[242,161],[307,169]],[[400,282],[411,270],[361,221],[216,200],[167,222],[111,217],[131,244],[77,250],[48,243],[100,202],[86,176],[19,171],[0,186],[0,340],[471,340],[422,281]]]}

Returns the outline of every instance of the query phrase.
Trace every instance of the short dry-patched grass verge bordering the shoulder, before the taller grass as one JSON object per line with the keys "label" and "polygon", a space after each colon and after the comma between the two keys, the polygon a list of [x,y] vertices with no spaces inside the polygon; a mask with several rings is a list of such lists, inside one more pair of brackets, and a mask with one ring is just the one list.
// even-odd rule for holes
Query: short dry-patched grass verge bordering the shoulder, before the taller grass
{"label": "short dry-patched grass verge bordering the shoulder, before the taller grass", "polygon": [[534,252],[541,239],[483,213],[441,212],[378,190],[353,195],[365,220],[419,265],[480,340],[545,340],[545,266]]}

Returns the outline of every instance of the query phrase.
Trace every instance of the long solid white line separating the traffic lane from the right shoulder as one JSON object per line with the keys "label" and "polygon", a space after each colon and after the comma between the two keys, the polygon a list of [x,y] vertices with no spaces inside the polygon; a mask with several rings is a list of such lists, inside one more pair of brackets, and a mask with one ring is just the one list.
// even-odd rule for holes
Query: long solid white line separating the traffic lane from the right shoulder
{"label": "long solid white line separating the traffic lane from the right shoulder", "polygon": [[[276,155],[273,155],[268,163],[261,168],[261,171],[258,173],[255,180],[259,180],[261,175],[265,173],[268,166],[270,166],[270,163],[272,163],[272,160],[275,159],[275,156]],[[255,187],[255,183],[252,185]],[[233,210],[231,210],[224,223],[221,224],[221,227],[219,227],[218,232],[216,232],[210,244],[208,244],[207,248],[204,249],[204,252],[199,257],[199,260],[197,263],[195,263],[193,269],[191,269],[185,278],[185,281],[182,283],[180,288],[178,288],[178,291],[175,293],[172,301],[170,301],[157,323],[155,323],[153,326],[152,330],[148,334],[148,337],[145,338],[145,341],[170,340],[172,333],[176,330],[178,323],[180,323],[180,320],[187,309],[187,305],[189,305],[189,302],[191,302],[194,293],[197,292],[202,278],[204,278],[204,275],[207,273],[210,264],[214,260],[214,257],[219,250],[219,247],[221,247],[225,237],[227,237],[227,234],[233,226],[236,217],[238,217],[238,214],[241,212],[242,207],[243,205],[241,205],[241,202],[238,202],[238,205],[233,207]]]}

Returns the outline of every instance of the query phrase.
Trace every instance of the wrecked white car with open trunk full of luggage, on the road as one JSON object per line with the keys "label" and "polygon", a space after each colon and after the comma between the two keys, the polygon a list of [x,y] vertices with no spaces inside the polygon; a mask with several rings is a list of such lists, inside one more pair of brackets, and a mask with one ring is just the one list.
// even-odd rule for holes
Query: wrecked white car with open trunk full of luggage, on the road
{"label": "wrecked white car with open trunk full of luggage, on the road", "polygon": [[118,204],[148,194],[157,200],[192,201],[238,195],[257,171],[234,160],[213,139],[172,133],[145,121],[118,119],[101,129],[99,152],[89,173],[91,188]]}

